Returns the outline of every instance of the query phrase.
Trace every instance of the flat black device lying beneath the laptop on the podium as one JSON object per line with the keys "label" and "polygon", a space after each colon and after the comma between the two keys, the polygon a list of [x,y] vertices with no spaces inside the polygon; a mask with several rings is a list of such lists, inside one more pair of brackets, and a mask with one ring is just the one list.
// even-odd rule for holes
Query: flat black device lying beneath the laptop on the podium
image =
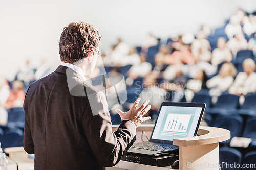
{"label": "flat black device lying beneath the laptop on the podium", "polygon": [[178,159],[179,159],[178,156],[173,156],[173,155],[163,155],[160,157],[148,158],[144,156],[130,155],[130,154],[125,154],[121,158],[121,160],[128,161],[128,162],[134,162],[134,163],[158,166],[158,167],[170,166],[173,164],[174,161]]}

